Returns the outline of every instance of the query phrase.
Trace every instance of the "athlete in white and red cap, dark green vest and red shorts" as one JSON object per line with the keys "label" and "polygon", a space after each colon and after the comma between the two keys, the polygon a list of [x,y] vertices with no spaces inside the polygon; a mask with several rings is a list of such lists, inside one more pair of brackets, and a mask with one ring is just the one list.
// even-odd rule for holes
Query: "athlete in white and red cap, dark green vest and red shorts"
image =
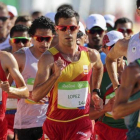
{"label": "athlete in white and red cap, dark green vest and red shorts", "polygon": [[[103,38],[103,52],[106,54],[115,45],[115,43],[123,38],[123,34],[118,31],[110,31],[106,33]],[[123,59],[122,59],[123,60]],[[118,61],[118,77],[120,77],[125,63],[121,59]],[[123,64],[122,64],[123,63]],[[122,66],[122,67],[121,67]],[[104,100],[103,110],[90,111],[91,119],[98,119],[94,126],[93,138],[96,140],[126,140],[126,126],[124,119],[114,120],[112,117],[112,108],[114,104],[115,93],[113,91],[112,83],[104,65],[104,74],[101,83],[101,95]]]}

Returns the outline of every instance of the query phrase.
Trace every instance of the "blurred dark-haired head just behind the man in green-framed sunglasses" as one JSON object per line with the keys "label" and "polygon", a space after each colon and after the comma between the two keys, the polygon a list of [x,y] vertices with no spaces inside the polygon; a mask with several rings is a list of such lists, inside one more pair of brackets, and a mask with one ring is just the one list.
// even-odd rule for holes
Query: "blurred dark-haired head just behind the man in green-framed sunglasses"
{"label": "blurred dark-haired head just behind the man in green-framed sunglasses", "polygon": [[32,24],[32,19],[30,16],[27,16],[27,15],[18,16],[16,21],[15,21],[15,25],[18,25],[18,24],[30,27]]}

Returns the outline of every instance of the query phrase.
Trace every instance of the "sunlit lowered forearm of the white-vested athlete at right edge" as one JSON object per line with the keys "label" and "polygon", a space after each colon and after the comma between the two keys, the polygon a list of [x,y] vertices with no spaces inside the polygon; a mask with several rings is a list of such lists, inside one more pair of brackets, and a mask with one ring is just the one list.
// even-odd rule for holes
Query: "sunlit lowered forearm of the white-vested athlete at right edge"
{"label": "sunlit lowered forearm of the white-vested athlete at right edge", "polygon": [[110,58],[106,58],[106,68],[109,74],[109,77],[112,81],[113,87],[117,87],[119,85],[118,74],[117,74],[117,62],[112,61]]}

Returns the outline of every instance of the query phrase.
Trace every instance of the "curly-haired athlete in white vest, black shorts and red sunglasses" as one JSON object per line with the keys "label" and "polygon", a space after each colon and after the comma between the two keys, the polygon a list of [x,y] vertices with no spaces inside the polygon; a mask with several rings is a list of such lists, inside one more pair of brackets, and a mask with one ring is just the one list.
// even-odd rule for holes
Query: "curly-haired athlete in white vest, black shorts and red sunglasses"
{"label": "curly-haired athlete in white vest, black shorts and red sunglasses", "polygon": [[[33,46],[21,48],[14,53],[30,93],[38,69],[38,60],[49,49],[54,32],[54,23],[49,18],[42,16],[35,19],[29,29]],[[42,137],[42,125],[46,119],[47,108],[47,98],[38,103],[30,98],[18,101],[14,129],[19,140],[38,140]]]}

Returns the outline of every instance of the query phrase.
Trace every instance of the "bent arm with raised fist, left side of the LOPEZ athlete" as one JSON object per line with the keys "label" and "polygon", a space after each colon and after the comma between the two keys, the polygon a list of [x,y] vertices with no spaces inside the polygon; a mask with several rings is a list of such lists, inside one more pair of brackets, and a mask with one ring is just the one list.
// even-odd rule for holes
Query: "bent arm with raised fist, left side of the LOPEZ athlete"
{"label": "bent arm with raised fist, left side of the LOPEZ athlete", "polygon": [[[32,91],[32,99],[35,102],[40,101],[50,92],[56,80],[61,75],[63,63],[60,58],[54,62],[54,58],[49,52],[42,55],[38,62],[38,71]],[[50,75],[52,69],[53,74]]]}

